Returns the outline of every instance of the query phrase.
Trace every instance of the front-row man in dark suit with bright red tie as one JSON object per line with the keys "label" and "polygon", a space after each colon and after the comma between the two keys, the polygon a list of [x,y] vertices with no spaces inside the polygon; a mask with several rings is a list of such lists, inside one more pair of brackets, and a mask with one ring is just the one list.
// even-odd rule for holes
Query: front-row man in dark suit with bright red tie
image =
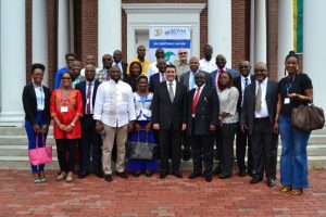
{"label": "front-row man in dark suit with bright red tie", "polygon": [[189,179],[202,175],[203,163],[203,175],[210,182],[213,178],[214,131],[220,114],[220,103],[216,90],[206,86],[204,73],[197,73],[195,81],[197,88],[187,94],[187,132],[193,159],[193,171]]}

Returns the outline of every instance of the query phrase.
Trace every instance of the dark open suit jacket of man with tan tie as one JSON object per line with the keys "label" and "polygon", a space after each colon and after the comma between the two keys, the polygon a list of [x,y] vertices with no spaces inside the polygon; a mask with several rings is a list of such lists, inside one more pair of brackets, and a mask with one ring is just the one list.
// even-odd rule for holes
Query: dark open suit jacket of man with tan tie
{"label": "dark open suit jacket of man with tan tie", "polygon": [[[277,95],[278,95],[278,84],[275,80],[268,78],[266,87],[266,104],[269,115],[269,122],[274,125],[275,115],[276,115],[276,105],[277,105]],[[249,133],[252,133],[253,119],[255,113],[255,82],[250,84],[243,95],[243,104],[240,115],[240,125],[244,125],[249,128]]]}

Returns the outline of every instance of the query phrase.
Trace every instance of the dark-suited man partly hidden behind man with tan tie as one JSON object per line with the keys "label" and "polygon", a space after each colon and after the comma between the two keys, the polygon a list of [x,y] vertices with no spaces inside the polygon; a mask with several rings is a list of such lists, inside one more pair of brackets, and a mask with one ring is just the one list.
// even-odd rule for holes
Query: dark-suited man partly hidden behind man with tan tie
{"label": "dark-suited man partly hidden behind man with tan tie", "polygon": [[[241,76],[238,76],[234,79],[234,86],[239,91],[239,100],[237,104],[238,114],[241,114],[242,100],[244,88],[247,88],[251,82],[254,82],[254,76],[250,75],[250,63],[248,61],[241,61],[239,63],[239,72]],[[240,118],[239,118],[240,119]],[[246,167],[244,157],[246,149],[248,144],[248,163]],[[251,152],[251,142],[248,136],[248,132],[242,132],[240,126],[237,130],[237,141],[236,141],[236,155],[237,155],[237,165],[239,169],[239,176],[244,177],[248,170],[248,174],[252,175],[252,152]]]}

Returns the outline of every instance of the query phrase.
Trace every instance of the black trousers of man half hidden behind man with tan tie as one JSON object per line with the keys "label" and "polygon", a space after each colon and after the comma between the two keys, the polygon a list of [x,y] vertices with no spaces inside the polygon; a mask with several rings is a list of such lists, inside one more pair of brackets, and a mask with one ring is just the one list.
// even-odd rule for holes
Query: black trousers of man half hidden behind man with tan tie
{"label": "black trousers of man half hidden behind man with tan tie", "polygon": [[244,164],[246,157],[246,149],[248,146],[248,173],[252,173],[253,165],[252,165],[252,151],[251,151],[251,140],[247,132],[242,132],[240,127],[237,130],[237,139],[236,139],[236,157],[237,157],[237,165],[239,170],[246,170],[247,166]]}

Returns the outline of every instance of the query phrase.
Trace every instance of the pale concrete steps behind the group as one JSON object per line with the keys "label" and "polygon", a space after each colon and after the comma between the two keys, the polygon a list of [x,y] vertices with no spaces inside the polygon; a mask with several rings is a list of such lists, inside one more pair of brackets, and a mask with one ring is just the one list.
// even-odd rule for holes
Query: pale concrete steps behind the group
{"label": "pale concrete steps behind the group", "polygon": [[[58,169],[55,141],[50,128],[47,144],[53,148],[53,163],[48,164],[48,169]],[[280,154],[278,145],[278,161]],[[326,168],[326,127],[312,132],[308,146],[309,167],[315,169]],[[29,169],[27,155],[27,136],[24,127],[0,127],[0,169]],[[191,162],[183,162],[181,169],[192,169]]]}

